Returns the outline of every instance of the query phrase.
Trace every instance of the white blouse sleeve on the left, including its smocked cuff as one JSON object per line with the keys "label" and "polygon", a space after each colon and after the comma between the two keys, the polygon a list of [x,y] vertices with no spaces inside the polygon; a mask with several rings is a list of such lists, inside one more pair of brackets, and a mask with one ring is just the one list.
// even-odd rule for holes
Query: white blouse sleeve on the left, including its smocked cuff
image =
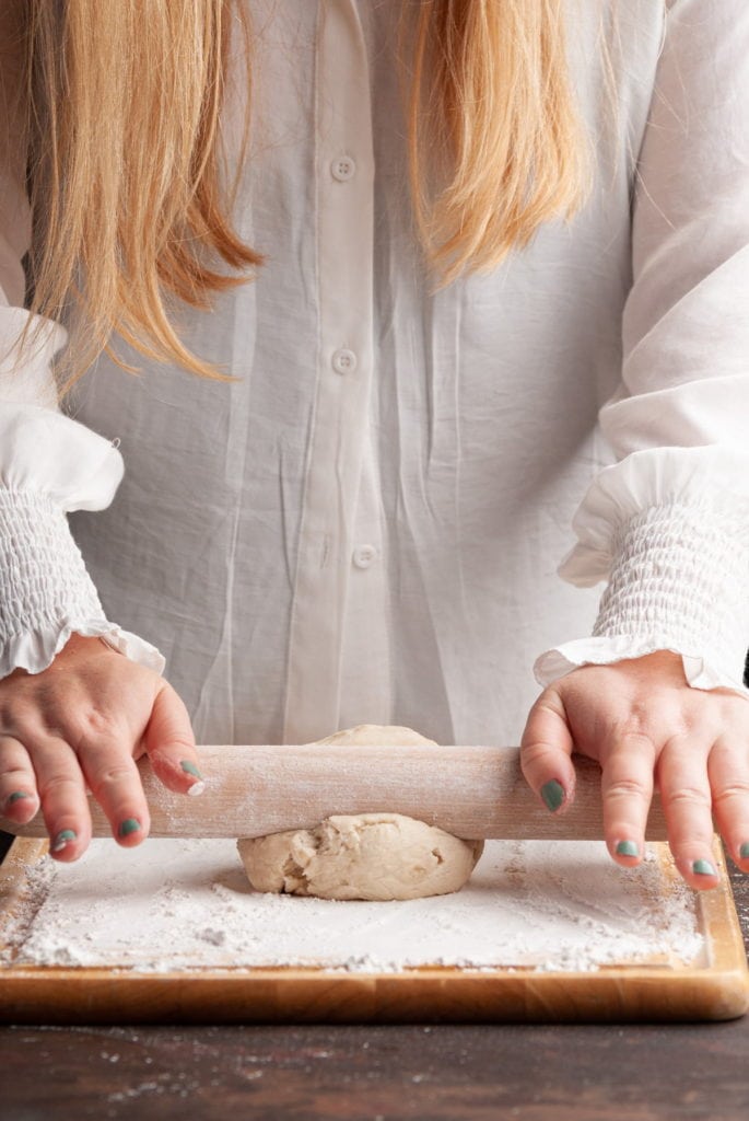
{"label": "white blouse sleeve on the left, including its smocked cuff", "polygon": [[[2,13],[2,28],[9,9]],[[12,41],[3,39],[4,43]],[[13,151],[7,91],[12,59],[0,74],[0,677],[45,669],[72,633],[100,636],[161,673],[149,642],[106,619],[68,525],[71,510],[109,506],[123,473],[114,444],[57,407],[52,370],[65,328],[41,321],[38,342],[20,350],[21,260],[30,243],[30,209]],[[39,323],[36,318],[32,327]],[[30,339],[32,336],[29,336]]]}

